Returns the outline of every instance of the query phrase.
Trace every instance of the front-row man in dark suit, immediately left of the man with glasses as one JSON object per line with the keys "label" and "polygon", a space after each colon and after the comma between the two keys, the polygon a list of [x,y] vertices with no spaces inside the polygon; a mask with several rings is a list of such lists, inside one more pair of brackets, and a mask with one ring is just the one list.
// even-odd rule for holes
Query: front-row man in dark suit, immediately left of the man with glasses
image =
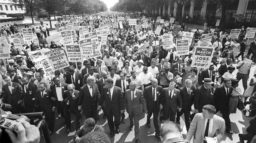
{"label": "front-row man in dark suit, immediately left of the man with glasses", "polygon": [[163,113],[162,119],[168,119],[170,117],[170,121],[175,122],[175,117],[177,110],[180,112],[182,109],[182,99],[181,93],[178,89],[175,89],[176,83],[170,82],[169,88],[162,89],[162,101],[160,101],[163,105]]}

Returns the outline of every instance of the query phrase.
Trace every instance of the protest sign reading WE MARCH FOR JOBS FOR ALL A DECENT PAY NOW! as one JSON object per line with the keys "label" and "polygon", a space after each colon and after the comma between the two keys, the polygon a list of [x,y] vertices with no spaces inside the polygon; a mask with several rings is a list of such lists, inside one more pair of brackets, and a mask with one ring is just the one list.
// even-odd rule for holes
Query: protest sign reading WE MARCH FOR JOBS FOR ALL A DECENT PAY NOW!
{"label": "protest sign reading WE MARCH FOR JOBS FOR ALL A DECENT PAY NOW!", "polygon": [[78,62],[83,60],[79,44],[66,45],[66,53],[69,62]]}

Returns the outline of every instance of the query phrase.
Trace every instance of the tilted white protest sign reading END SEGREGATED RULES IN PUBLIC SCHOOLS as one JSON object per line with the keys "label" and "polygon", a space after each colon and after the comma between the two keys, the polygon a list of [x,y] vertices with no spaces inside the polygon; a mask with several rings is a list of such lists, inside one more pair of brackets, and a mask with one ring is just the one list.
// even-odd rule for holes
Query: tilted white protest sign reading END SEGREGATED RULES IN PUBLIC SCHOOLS
{"label": "tilted white protest sign reading END SEGREGATED RULES IN PUBLIC SCHOOLS", "polygon": [[45,52],[44,54],[49,58],[54,71],[69,67],[68,59],[62,48],[57,48],[49,52]]}

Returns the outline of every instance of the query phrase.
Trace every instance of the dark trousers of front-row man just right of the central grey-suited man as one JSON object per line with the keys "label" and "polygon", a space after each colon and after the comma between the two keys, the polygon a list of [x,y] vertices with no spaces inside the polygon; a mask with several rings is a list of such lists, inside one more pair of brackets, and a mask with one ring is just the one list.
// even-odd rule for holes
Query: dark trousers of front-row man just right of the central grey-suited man
{"label": "dark trousers of front-row man just right of the central grey-suited man", "polygon": [[[159,108],[159,107],[158,107]],[[158,111],[156,110],[156,101],[153,101],[153,108],[152,110],[147,110],[148,116],[147,116],[147,124],[150,125],[150,117],[153,113],[153,123],[155,127],[156,134],[160,133],[159,125],[158,125]]]}

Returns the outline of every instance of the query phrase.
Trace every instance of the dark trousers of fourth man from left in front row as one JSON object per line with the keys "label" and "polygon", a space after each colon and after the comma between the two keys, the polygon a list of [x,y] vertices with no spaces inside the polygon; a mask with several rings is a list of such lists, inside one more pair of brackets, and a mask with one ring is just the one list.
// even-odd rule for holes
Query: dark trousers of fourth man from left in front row
{"label": "dark trousers of fourth man from left in front row", "polygon": [[58,101],[58,109],[59,109],[59,113],[63,115],[65,119],[65,125],[67,129],[70,129],[71,122],[70,122],[69,106],[66,104],[66,102]]}

